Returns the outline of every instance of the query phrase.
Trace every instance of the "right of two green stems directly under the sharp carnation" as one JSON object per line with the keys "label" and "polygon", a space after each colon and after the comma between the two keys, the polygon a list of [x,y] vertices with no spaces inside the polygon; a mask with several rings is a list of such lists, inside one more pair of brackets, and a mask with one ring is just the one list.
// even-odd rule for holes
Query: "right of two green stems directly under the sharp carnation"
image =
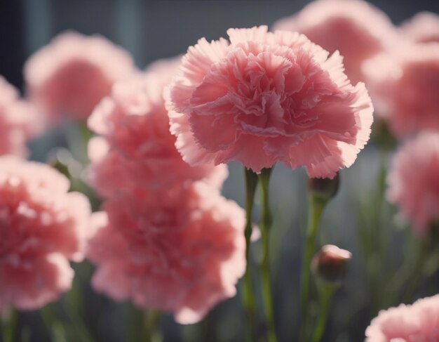
{"label": "right of two green stems directly under the sharp carnation", "polygon": [[276,342],[276,326],[274,323],[273,301],[271,299],[271,280],[270,280],[270,260],[269,260],[269,230],[273,223],[273,216],[271,214],[269,205],[269,180],[272,169],[262,169],[259,174],[259,183],[261,185],[261,220],[259,228],[261,229],[262,237],[262,299],[265,308],[265,320],[268,333],[268,341]]}

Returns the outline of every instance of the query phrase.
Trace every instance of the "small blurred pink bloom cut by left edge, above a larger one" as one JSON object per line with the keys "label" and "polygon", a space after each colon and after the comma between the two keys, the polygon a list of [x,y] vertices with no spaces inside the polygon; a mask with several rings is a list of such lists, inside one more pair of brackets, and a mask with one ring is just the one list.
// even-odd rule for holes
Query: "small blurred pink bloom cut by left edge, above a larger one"
{"label": "small blurred pink bloom cut by left edge, above a larger one", "polygon": [[0,154],[27,155],[26,141],[42,129],[35,108],[20,100],[17,89],[0,76]]}

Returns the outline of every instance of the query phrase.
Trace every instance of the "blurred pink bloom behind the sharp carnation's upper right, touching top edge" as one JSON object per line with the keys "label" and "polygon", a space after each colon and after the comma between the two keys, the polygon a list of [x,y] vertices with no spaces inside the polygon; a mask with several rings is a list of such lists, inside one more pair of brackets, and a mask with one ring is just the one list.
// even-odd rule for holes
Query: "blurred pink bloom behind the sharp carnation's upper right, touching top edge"
{"label": "blurred pink bloom behind the sharp carnation's upper right, touching top edge", "polygon": [[339,51],[353,82],[363,81],[361,63],[397,38],[387,15],[361,0],[313,1],[299,13],[275,22],[273,29],[299,32],[330,53]]}

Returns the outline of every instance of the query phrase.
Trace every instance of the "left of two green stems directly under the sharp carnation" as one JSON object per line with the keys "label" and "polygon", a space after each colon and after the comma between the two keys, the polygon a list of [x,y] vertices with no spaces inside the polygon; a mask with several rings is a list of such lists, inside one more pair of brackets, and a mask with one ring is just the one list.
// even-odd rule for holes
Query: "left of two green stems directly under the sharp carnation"
{"label": "left of two green stems directly under the sharp carnation", "polygon": [[255,292],[252,287],[252,268],[250,258],[250,244],[252,237],[252,211],[255,202],[255,192],[257,187],[257,174],[250,169],[244,168],[245,171],[245,260],[247,266],[245,268],[245,275],[243,280],[244,293],[243,304],[247,313],[249,323],[248,341],[256,341],[257,326],[256,326],[256,301]]}

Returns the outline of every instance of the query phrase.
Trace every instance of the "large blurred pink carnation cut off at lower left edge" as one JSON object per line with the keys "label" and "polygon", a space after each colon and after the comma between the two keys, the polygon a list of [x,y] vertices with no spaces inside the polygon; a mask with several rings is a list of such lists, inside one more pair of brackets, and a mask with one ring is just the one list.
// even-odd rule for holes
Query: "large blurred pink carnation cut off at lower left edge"
{"label": "large blurred pink carnation cut off at lower left edge", "polygon": [[50,166],[0,157],[0,311],[38,309],[70,289],[90,204],[68,189]]}

